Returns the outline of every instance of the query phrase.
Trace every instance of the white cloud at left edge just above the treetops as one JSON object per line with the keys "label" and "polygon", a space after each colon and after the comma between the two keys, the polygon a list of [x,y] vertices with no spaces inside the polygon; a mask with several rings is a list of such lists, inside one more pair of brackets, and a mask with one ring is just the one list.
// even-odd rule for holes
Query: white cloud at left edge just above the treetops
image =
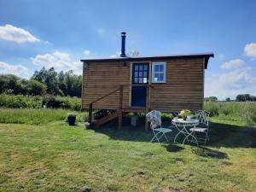
{"label": "white cloud at left edge just above the treetops", "polygon": [[24,66],[10,65],[3,61],[0,61],[0,73],[15,74],[18,77],[26,78],[26,79],[28,79],[32,75],[32,72]]}

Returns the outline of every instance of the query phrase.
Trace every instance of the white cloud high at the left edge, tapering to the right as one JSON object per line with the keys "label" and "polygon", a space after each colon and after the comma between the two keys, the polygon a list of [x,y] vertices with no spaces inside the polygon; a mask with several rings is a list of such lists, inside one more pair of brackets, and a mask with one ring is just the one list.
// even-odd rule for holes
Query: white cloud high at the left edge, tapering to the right
{"label": "white cloud high at the left edge, tapering to the right", "polygon": [[0,39],[14,41],[18,44],[40,41],[38,38],[32,36],[30,32],[11,25],[0,26]]}

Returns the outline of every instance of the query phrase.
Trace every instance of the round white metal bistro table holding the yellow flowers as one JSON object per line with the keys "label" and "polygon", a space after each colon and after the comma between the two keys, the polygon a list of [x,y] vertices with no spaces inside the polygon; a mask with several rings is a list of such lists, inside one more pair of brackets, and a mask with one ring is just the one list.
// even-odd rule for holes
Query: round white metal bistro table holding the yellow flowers
{"label": "round white metal bistro table holding the yellow flowers", "polygon": [[[183,140],[183,144],[188,141],[188,142],[194,142],[198,145],[197,139],[193,134],[193,131],[188,131],[189,128],[195,127],[195,125],[199,124],[198,119],[177,119],[174,118],[172,119],[172,124],[176,126],[177,128],[177,135],[174,137],[174,143],[176,142],[176,139],[179,135],[183,135],[185,138]],[[189,137],[192,137],[191,140],[189,140]]]}

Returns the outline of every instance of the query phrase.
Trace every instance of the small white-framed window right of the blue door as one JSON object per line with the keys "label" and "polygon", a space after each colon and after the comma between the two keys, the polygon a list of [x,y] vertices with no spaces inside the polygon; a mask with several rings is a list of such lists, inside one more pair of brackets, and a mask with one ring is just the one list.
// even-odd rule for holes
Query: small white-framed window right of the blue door
{"label": "small white-framed window right of the blue door", "polygon": [[166,62],[152,62],[152,83],[166,83]]}

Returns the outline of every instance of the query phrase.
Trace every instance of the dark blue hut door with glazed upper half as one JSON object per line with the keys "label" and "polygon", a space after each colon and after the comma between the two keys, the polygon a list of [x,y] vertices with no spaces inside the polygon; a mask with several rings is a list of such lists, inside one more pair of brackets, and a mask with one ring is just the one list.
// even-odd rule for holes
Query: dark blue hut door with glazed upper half
{"label": "dark blue hut door with glazed upper half", "polygon": [[146,107],[149,63],[133,63],[131,107]]}

